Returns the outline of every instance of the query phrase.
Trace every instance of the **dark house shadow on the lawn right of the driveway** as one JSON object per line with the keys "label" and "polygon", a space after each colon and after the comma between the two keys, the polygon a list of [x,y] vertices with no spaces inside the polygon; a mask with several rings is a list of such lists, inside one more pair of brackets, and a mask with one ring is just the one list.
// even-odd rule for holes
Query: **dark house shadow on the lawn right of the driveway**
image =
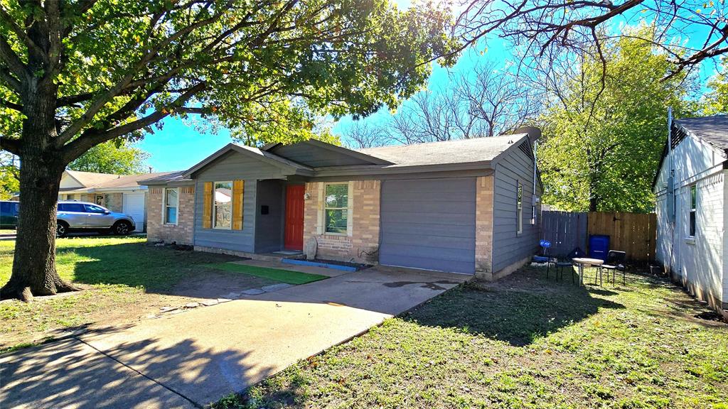
{"label": "dark house shadow on the lawn right of the driveway", "polygon": [[[525,274],[531,277],[524,279]],[[408,312],[403,319],[419,325],[454,327],[513,346],[526,346],[539,336],[596,314],[601,308],[625,308],[592,296],[616,294],[611,290],[559,285],[547,282],[540,274],[519,271],[484,289],[466,285]]]}

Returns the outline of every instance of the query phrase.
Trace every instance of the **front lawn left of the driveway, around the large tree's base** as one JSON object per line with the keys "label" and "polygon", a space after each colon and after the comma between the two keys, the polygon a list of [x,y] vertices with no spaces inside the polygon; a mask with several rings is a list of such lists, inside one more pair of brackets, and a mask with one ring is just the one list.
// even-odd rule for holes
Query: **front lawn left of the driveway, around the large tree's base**
{"label": "front lawn left of the driveway, around the large tree's base", "polygon": [[[144,237],[77,237],[56,241],[60,277],[84,288],[32,303],[0,303],[0,352],[42,341],[50,330],[115,325],[175,301],[175,285],[195,277],[201,264],[234,260],[227,255],[177,251],[146,244]],[[10,278],[15,241],[0,241],[0,286]]]}

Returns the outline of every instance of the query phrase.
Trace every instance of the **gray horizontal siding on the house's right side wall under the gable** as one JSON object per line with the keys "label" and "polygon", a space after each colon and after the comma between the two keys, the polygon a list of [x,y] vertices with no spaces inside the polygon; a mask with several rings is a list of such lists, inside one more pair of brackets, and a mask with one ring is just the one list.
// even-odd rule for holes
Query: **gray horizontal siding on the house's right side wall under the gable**
{"label": "gray horizontal siding on the house's right side wall under the gable", "polygon": [[[493,196],[493,271],[499,271],[538,250],[539,227],[531,225],[534,164],[521,149],[513,148],[496,166]],[[518,182],[523,185],[523,233],[517,234]],[[540,196],[537,186],[537,196]],[[538,212],[537,212],[538,217]]]}

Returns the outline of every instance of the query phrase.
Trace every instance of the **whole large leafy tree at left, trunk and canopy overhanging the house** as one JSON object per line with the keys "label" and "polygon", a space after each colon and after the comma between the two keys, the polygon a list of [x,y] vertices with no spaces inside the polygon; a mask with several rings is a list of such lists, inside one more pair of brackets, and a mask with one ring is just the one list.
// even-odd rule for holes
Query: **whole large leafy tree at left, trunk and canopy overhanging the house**
{"label": "whole large leafy tree at left, trunk and canopy overhanging the house", "polygon": [[249,143],[312,134],[316,116],[394,108],[451,65],[446,9],[388,0],[0,1],[0,135],[20,156],[20,229],[0,298],[73,290],[55,271],[63,169],[167,116]]}

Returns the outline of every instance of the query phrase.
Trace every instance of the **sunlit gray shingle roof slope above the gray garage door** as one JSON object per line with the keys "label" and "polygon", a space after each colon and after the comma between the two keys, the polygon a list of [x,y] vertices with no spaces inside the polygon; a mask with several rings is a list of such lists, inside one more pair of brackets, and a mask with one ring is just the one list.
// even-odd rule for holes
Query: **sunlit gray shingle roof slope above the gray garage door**
{"label": "sunlit gray shingle roof slope above the gray garage door", "polygon": [[379,148],[359,149],[358,151],[392,162],[394,163],[392,167],[472,163],[491,161],[507,148],[513,146],[513,143],[526,136],[528,134],[518,133],[490,138],[381,146]]}

